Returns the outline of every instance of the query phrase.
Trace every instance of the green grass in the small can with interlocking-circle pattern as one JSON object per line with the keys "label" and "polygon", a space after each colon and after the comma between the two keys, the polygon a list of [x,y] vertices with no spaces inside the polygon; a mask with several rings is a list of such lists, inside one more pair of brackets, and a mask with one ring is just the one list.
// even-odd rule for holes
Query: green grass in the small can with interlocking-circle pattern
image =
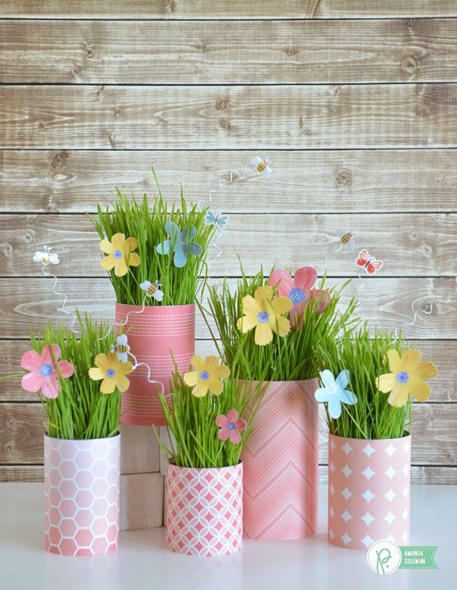
{"label": "green grass in the small can with interlocking-circle pattern", "polygon": [[[167,447],[168,442],[161,440],[154,427],[167,459],[179,467],[229,467],[238,464],[243,446],[251,435],[252,419],[265,388],[251,383],[238,387],[236,380],[229,377],[224,380],[224,390],[218,396],[208,392],[205,397],[194,397],[191,390],[176,371],[171,381],[171,409],[165,397],[160,396],[164,416],[169,424],[167,429],[175,440]],[[227,415],[232,408],[238,411],[238,417],[247,422],[238,444],[219,440],[219,427],[214,422],[217,416]]]}

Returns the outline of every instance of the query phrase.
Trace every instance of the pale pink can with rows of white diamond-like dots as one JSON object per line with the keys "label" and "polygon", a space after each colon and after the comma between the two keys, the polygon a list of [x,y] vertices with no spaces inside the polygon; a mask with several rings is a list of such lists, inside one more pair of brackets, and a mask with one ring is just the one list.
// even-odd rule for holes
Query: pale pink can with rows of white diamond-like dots
{"label": "pale pink can with rows of white diamond-like dots", "polygon": [[409,540],[411,435],[397,439],[328,437],[328,541],[368,549]]}

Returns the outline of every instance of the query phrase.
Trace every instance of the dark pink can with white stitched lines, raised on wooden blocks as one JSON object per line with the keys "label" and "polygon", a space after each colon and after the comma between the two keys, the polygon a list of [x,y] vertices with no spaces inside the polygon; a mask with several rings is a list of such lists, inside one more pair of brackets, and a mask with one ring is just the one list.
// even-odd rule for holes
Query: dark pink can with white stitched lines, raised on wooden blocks
{"label": "dark pink can with white stitched lines, raised on wooden blocks", "polygon": [[150,381],[161,382],[168,394],[174,362],[181,374],[189,370],[195,351],[195,304],[143,309],[142,305],[116,303],[116,324],[118,330],[122,325],[128,335],[136,360],[144,363],[129,375],[130,387],[122,395],[121,422],[163,426],[166,422],[158,396],[161,389]]}

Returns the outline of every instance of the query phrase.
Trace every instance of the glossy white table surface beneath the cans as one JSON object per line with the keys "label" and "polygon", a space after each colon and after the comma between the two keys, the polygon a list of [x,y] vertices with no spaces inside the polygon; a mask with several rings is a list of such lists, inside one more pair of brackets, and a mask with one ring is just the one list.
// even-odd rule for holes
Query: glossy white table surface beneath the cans
{"label": "glossy white table surface beneath the cans", "polygon": [[438,545],[438,569],[378,576],[365,551],[326,539],[326,485],[319,490],[316,536],[250,541],[225,557],[195,558],[166,549],[164,529],[121,533],[108,555],[49,554],[43,543],[43,484],[0,484],[1,590],[450,590],[456,588],[457,486],[413,486],[411,541]]}

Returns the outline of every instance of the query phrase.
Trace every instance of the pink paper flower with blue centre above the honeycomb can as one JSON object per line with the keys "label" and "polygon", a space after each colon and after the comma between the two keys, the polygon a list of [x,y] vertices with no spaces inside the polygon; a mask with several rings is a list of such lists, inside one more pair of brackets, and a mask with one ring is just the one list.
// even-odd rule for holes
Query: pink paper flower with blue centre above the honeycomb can
{"label": "pink paper flower with blue centre above the honeycomb can", "polygon": [[46,344],[41,350],[41,355],[35,350],[24,352],[21,358],[21,367],[30,372],[22,377],[21,385],[24,390],[30,392],[37,392],[41,389],[45,397],[54,399],[60,392],[58,377],[71,377],[74,368],[68,360],[60,360],[57,363],[58,370],[52,357],[51,346],[54,357],[59,359],[61,350],[56,344]]}

